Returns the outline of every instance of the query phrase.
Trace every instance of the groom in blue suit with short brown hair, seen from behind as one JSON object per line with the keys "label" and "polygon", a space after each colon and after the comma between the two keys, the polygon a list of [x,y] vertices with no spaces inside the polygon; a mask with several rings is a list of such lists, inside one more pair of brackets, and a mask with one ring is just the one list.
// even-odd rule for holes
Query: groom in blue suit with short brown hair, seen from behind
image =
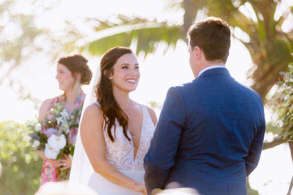
{"label": "groom in blue suit with short brown hair, seen from behind", "polygon": [[[195,79],[171,87],[145,156],[147,194],[176,182],[201,195],[246,195],[265,133],[262,100],[225,68],[230,29],[209,17],[188,30]],[[237,65],[237,64],[235,64]]]}

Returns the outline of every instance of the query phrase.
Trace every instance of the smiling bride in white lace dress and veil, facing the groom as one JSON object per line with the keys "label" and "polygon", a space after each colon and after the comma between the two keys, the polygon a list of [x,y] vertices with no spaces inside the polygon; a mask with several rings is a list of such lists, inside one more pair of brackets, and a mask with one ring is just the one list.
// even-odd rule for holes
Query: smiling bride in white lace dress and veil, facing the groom
{"label": "smiling bride in white lace dress and veil, facing the groom", "polygon": [[139,64],[129,48],[105,53],[90,83],[92,96],[85,98],[70,184],[88,185],[99,195],[146,194],[143,159],[157,117],[128,96],[139,78]]}

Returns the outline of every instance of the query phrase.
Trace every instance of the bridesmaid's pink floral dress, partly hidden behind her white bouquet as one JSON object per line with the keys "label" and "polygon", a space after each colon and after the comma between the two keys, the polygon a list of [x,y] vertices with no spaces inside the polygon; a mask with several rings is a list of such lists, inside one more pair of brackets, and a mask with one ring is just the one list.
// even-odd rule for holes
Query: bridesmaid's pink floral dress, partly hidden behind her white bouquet
{"label": "bridesmaid's pink floral dress, partly hidden behind her white bouquet", "polygon": [[[52,99],[50,110],[47,113],[47,119],[48,120],[55,120],[51,113],[51,109],[55,107],[56,103],[62,103],[64,102],[64,95],[58,96],[56,98]],[[84,103],[85,94],[82,92],[79,97],[76,100],[76,109],[79,109],[83,103]],[[80,117],[80,116],[79,116]],[[78,128],[71,128],[69,130],[69,141],[74,144],[77,136]],[[46,132],[46,134],[56,134],[57,132]],[[47,135],[49,137],[50,135]],[[43,185],[44,183],[48,181],[57,182],[58,181],[58,167],[55,167],[50,162],[46,161],[44,159],[43,165],[42,165],[42,174],[41,174],[41,183],[40,185]]]}

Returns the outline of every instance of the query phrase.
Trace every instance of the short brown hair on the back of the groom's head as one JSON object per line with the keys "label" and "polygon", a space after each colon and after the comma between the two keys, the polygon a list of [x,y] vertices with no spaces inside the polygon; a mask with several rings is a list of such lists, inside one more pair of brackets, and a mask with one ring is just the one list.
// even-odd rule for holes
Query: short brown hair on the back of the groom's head
{"label": "short brown hair on the back of the groom's head", "polygon": [[187,33],[192,50],[198,46],[207,61],[221,60],[225,63],[229,56],[230,35],[228,23],[215,17],[196,22]]}

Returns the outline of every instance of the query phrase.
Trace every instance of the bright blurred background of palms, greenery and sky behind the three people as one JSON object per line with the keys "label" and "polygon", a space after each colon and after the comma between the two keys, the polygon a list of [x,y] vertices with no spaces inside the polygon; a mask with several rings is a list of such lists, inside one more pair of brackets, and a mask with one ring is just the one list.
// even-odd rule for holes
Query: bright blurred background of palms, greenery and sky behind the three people
{"label": "bright blurred background of palms, greenery and sky behind the three people", "polygon": [[129,46],[141,71],[131,97],[159,117],[168,88],[194,79],[186,33],[208,16],[230,24],[227,68],[265,104],[264,150],[249,194],[286,194],[293,163],[269,103],[279,72],[293,62],[293,0],[0,0],[0,195],[32,195],[39,187],[42,160],[24,124],[44,99],[62,93],[57,59],[80,53],[96,72],[107,49]]}

